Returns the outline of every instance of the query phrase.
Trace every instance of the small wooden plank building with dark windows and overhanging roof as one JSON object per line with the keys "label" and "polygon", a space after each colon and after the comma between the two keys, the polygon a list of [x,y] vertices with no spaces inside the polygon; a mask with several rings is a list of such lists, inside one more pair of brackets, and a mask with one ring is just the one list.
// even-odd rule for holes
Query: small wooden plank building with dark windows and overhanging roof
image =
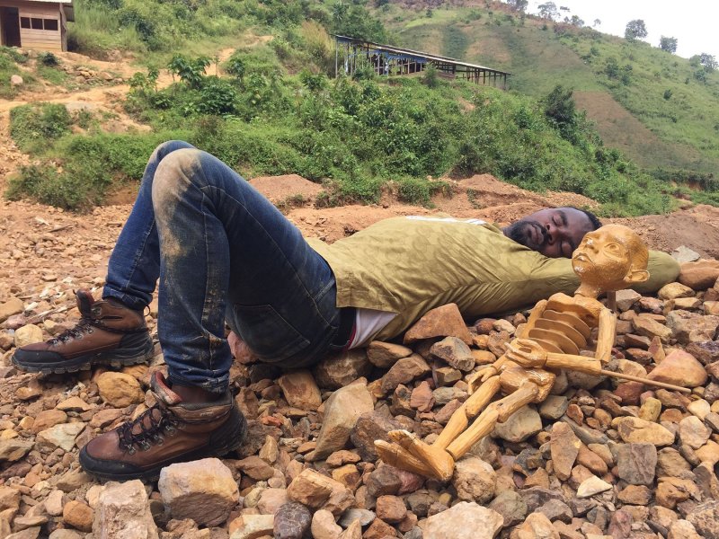
{"label": "small wooden plank building with dark windows and overhanging roof", "polygon": [[67,50],[72,0],[0,0],[0,45],[49,51]]}

